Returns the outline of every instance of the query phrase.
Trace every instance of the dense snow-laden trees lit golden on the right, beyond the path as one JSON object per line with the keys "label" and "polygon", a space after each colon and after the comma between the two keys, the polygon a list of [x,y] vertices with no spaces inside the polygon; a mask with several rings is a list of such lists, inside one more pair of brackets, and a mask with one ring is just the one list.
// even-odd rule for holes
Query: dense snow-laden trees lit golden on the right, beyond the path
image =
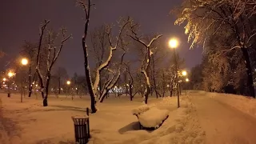
{"label": "dense snow-laden trees lit golden on the right, beyond the path", "polygon": [[185,0],[175,10],[194,45],[204,47],[202,64],[190,75],[194,89],[255,98],[256,2]]}

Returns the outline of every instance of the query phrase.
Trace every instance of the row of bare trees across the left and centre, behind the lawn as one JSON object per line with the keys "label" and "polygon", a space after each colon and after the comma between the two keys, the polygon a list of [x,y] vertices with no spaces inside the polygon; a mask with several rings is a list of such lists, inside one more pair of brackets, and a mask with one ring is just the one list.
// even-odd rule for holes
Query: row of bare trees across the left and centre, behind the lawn
{"label": "row of bare trees across the left and centre, behind the lawn", "polygon": [[[94,4],[90,0],[77,3],[85,13],[82,37],[85,76],[79,78],[75,74],[72,84],[78,90],[83,89],[90,94],[92,113],[97,111],[96,103],[103,102],[115,86],[126,87],[130,100],[135,94],[141,93],[145,103],[148,102],[148,97],[153,92],[157,97],[164,97],[166,91],[172,94],[176,85],[174,83],[176,82],[174,81],[174,62],[172,58],[165,57],[166,54],[170,55],[170,50],[166,48],[166,42],[161,39],[162,34],[143,36],[140,34],[138,23],[130,17],[119,19],[116,25],[118,26],[117,36],[113,34],[114,29],[117,29],[114,25],[104,25],[89,31],[91,7]],[[48,105],[50,87],[55,87],[55,89],[58,87],[60,90],[63,78],[67,78],[65,70],[58,69],[55,72],[52,70],[63,46],[71,38],[70,34],[66,34],[65,28],[56,32],[49,27],[50,21],[43,22],[40,26],[38,42],[25,42],[20,54],[30,59],[29,91],[31,94],[34,81],[38,81],[43,106]],[[137,58],[131,59],[127,56],[129,54],[135,54]],[[95,66],[89,66],[90,57],[94,58]],[[184,61],[178,57],[178,54],[176,58],[178,70],[181,70]],[[162,62],[168,64],[163,66]]]}

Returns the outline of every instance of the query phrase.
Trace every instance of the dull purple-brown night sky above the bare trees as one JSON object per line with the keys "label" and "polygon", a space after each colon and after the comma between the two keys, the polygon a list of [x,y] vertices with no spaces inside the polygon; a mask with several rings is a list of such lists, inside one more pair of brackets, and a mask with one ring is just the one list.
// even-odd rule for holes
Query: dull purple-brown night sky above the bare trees
{"label": "dull purple-brown night sky above the bare trees", "polygon": [[[202,49],[189,50],[182,26],[174,26],[174,16],[169,12],[181,0],[94,0],[96,6],[91,12],[90,30],[104,23],[113,23],[120,16],[130,15],[142,26],[142,32],[164,34],[164,38],[176,36],[182,42],[179,54],[191,68],[201,62]],[[83,74],[82,30],[83,12],[75,6],[75,0],[1,0],[0,5],[0,49],[8,54],[0,66],[18,54],[24,40],[38,41],[38,27],[44,19],[51,20],[51,26],[66,26],[73,39],[64,47],[58,66],[64,66],[69,74]]]}

